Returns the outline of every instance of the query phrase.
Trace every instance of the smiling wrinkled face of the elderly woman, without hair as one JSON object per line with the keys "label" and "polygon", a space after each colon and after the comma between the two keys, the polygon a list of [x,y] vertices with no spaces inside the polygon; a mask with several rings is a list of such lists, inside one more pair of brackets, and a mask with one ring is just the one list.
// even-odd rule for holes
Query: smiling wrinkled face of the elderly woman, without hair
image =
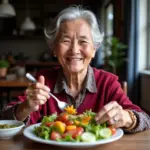
{"label": "smiling wrinkled face of the elderly woman, without hair", "polygon": [[79,73],[86,71],[95,56],[91,28],[83,19],[61,23],[57,34],[54,54],[64,71]]}

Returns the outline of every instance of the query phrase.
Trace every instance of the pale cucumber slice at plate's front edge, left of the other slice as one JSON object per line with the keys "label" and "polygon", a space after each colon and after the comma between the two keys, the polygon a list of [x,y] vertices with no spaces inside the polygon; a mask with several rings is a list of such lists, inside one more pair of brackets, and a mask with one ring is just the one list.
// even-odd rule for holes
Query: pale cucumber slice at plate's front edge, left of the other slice
{"label": "pale cucumber slice at plate's front edge, left of the other slice", "polygon": [[95,142],[96,141],[96,136],[91,132],[84,132],[81,135],[81,140],[83,142]]}

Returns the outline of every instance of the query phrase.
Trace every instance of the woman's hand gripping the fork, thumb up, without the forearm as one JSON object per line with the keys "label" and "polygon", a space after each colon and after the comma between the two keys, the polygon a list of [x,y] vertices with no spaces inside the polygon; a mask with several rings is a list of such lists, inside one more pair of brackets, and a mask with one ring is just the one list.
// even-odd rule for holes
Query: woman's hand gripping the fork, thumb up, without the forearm
{"label": "woman's hand gripping the fork, thumb up, without the forearm", "polygon": [[45,85],[45,79],[40,76],[38,82],[35,84],[29,84],[26,89],[26,108],[31,112],[39,109],[39,105],[46,103],[49,96],[50,89]]}

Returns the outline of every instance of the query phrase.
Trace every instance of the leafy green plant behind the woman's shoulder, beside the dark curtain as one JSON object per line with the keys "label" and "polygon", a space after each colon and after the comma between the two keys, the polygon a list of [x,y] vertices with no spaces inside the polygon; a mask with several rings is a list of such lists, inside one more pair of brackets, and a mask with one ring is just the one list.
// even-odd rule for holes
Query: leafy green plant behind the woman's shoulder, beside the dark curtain
{"label": "leafy green plant behind the woman's shoulder, beside the dark curtain", "polygon": [[104,45],[104,69],[117,74],[118,69],[127,60],[125,56],[126,45],[121,43],[116,37],[112,37],[110,42]]}

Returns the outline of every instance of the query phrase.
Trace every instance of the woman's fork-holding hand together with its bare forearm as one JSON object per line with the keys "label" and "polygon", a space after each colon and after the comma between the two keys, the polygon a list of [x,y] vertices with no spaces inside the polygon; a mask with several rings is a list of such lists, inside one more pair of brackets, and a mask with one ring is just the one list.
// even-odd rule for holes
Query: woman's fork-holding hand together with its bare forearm
{"label": "woman's fork-holding hand together with its bare forearm", "polygon": [[39,109],[39,106],[46,103],[50,98],[50,89],[44,85],[45,79],[40,76],[36,84],[29,84],[26,89],[26,99],[23,103],[19,104],[15,111],[17,120],[24,121],[31,112]]}

